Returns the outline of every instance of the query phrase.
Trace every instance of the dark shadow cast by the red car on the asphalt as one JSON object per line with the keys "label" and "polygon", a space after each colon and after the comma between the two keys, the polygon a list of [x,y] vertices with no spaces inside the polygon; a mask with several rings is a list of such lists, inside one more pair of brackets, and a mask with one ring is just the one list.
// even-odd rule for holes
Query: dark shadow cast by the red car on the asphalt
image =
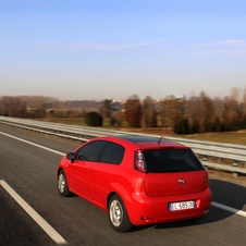
{"label": "dark shadow cast by the red car on the asphalt", "polygon": [[[243,210],[246,205],[246,187],[233,184],[230,182],[221,181],[221,180],[210,180],[210,188],[212,192],[212,201],[225,205],[227,207]],[[193,220],[184,220],[184,221],[175,221],[168,223],[160,223],[155,225],[145,225],[145,226],[134,226],[132,232],[136,232],[139,230],[145,230],[153,226],[155,229],[170,229],[170,227],[187,227],[197,224],[207,224],[213,223],[221,220],[224,220],[229,217],[232,217],[234,213],[211,206],[210,212],[208,216],[193,219]]]}

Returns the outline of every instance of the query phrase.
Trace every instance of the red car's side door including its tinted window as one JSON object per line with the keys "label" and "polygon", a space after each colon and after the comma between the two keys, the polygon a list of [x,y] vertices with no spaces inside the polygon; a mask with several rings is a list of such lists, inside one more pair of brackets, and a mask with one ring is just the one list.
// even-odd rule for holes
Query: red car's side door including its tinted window
{"label": "red car's side door including its tinted window", "polygon": [[70,164],[70,185],[74,193],[94,199],[95,169],[106,144],[106,140],[90,142],[76,151],[76,159]]}

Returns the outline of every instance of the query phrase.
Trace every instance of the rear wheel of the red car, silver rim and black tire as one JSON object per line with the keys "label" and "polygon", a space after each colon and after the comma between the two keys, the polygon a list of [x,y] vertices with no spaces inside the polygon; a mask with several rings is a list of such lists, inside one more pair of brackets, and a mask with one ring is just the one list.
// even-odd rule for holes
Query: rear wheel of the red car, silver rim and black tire
{"label": "rear wheel of the red car, silver rim and black tire", "polygon": [[113,195],[109,201],[109,221],[116,232],[127,232],[133,226],[125,205],[118,194]]}

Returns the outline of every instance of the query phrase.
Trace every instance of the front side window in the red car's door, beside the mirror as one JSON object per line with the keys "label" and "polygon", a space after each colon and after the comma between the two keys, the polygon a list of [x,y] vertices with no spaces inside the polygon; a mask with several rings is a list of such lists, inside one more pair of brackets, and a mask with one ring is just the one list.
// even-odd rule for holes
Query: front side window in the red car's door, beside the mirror
{"label": "front side window in the red car's door, beside the mirror", "polygon": [[83,146],[78,149],[76,159],[83,161],[98,161],[106,143],[106,140],[95,140]]}

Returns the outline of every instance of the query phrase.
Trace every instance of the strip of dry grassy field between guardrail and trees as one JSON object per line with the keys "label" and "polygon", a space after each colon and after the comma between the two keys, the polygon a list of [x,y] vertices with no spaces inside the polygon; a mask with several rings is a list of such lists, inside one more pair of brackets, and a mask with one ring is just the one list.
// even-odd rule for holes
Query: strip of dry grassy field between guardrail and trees
{"label": "strip of dry grassy field between guardrail and trees", "polygon": [[[44,119],[42,121],[86,126],[84,119]],[[115,131],[125,131],[125,132],[130,131],[130,132],[155,134],[155,135],[162,135],[162,136],[184,137],[188,139],[195,139],[195,140],[208,140],[208,142],[216,142],[216,143],[246,145],[246,130],[238,131],[238,132],[226,132],[226,133],[200,133],[200,134],[194,134],[194,135],[175,135],[175,134],[167,133],[162,127],[133,128],[133,127],[127,127],[126,123],[124,123],[123,126],[121,127],[110,127],[109,121],[110,121],[109,119],[103,120],[103,127],[115,130]]]}

